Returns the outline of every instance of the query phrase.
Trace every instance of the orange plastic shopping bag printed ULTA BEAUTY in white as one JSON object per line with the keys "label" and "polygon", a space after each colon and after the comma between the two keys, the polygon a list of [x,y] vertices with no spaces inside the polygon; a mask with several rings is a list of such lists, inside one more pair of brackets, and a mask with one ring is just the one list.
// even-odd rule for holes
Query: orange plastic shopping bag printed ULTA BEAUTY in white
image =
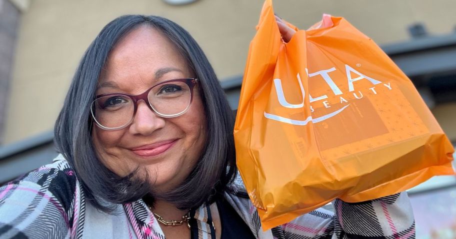
{"label": "orange plastic shopping bag printed ULTA BEAUTY in white", "polygon": [[325,15],[288,43],[266,0],[234,126],[263,230],[335,198],[371,200],[453,174],[453,148],[411,81],[367,36]]}

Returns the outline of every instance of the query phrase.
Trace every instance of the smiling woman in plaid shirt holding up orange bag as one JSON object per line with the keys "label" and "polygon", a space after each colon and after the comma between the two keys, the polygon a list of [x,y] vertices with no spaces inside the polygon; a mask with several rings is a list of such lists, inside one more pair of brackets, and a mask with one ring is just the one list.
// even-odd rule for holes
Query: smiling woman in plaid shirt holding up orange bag
{"label": "smiling woman in plaid shirt holding up orange bag", "polygon": [[121,16],[76,70],[55,124],[61,154],[0,188],[0,239],[414,237],[405,193],[336,200],[335,216],[263,232],[236,176],[232,127],[194,39],[161,17]]}

